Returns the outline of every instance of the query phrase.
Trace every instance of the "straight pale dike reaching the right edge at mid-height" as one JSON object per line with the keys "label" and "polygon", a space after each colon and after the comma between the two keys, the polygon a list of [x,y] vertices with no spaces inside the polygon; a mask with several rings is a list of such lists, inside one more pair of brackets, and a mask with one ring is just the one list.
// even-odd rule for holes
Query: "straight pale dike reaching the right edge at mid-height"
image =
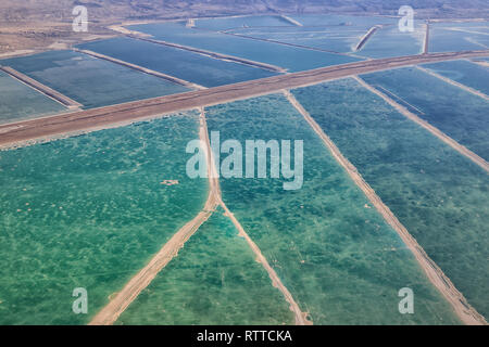
{"label": "straight pale dike reaching the right edge at mid-height", "polygon": [[425,128],[426,130],[431,132],[434,136],[436,136],[438,139],[440,139],[441,141],[447,143],[449,146],[451,146],[453,150],[455,150],[456,152],[459,152],[463,156],[467,157],[468,159],[471,159],[472,162],[474,162],[475,164],[480,166],[484,170],[489,172],[489,163],[487,163],[484,158],[481,158],[480,156],[478,156],[477,154],[475,154],[474,152],[468,150],[466,146],[460,144],[459,142],[456,142],[455,140],[453,140],[449,136],[447,136],[444,132],[440,131],[438,128],[431,126],[426,120],[419,118],[418,116],[416,116],[415,114],[410,112],[404,106],[398,104],[396,101],[390,99],[388,95],[386,95],[385,93],[383,93],[378,89],[376,89],[373,86],[371,86],[367,82],[365,82],[362,78],[360,78],[358,76],[353,76],[353,78],[360,85],[362,85],[364,88],[368,89],[374,94],[376,94],[376,95],[380,97],[381,99],[384,99],[384,101],[386,101],[389,105],[394,107],[400,114],[405,116],[408,119],[410,119],[410,120],[416,123],[417,125],[422,126],[423,128]]}

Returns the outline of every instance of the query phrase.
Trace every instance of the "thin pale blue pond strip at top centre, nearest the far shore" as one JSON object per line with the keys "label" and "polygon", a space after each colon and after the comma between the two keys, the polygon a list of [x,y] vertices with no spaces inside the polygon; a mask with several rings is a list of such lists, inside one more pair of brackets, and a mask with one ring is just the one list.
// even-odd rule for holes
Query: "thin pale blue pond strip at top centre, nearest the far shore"
{"label": "thin pale blue pond strip at top centre, nearest the far shore", "polygon": [[221,17],[209,20],[196,20],[196,27],[208,30],[226,30],[239,27],[256,27],[256,26],[291,26],[288,21],[283,20],[278,15],[250,15],[237,17]]}

